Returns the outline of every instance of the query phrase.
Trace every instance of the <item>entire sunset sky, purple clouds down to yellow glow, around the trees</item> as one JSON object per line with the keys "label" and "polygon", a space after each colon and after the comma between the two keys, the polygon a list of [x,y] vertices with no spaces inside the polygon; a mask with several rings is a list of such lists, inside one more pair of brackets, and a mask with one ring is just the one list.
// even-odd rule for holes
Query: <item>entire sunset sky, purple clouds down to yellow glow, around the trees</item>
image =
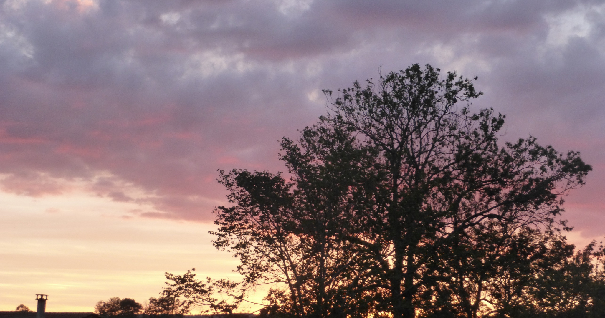
{"label": "entire sunset sky, purple clouds down to yellow glow, around the trees", "polygon": [[478,76],[501,140],[580,151],[567,237],[603,238],[603,1],[0,0],[0,310],[237,277],[208,234],[217,170],[285,170],[321,89],[413,63]]}

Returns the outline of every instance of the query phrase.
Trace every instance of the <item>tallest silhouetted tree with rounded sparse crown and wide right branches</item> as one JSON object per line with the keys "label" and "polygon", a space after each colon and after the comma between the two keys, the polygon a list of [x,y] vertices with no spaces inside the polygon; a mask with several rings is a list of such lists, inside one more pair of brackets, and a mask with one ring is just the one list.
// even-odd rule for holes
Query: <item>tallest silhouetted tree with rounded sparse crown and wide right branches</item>
{"label": "tallest silhouetted tree with rounded sparse crown and wide right branches", "polygon": [[413,65],[381,77],[378,88],[368,81],[343,89],[322,119],[355,131],[378,153],[377,204],[361,213],[362,233],[376,238],[354,239],[379,264],[396,318],[415,316],[420,292],[442,278],[441,256],[456,252],[468,230],[494,219],[551,224],[560,195],[592,169],[577,152],[560,155],[533,137],[499,146],[503,115],[455,107],[480,94],[456,73],[440,79],[439,70]]}

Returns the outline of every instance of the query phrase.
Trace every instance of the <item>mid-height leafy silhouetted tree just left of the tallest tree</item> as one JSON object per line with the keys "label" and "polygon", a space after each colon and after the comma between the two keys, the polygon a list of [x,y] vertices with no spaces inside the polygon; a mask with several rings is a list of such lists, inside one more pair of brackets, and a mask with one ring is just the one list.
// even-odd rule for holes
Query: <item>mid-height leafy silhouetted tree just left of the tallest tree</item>
{"label": "mid-height leafy silhouetted tree just left of the tallest tree", "polygon": [[[329,135],[327,135],[329,134]],[[327,138],[326,138],[327,137]],[[367,259],[343,239],[342,224],[352,209],[350,187],[363,182],[371,167],[367,149],[356,149],[347,131],[306,129],[299,151],[284,139],[286,161],[295,180],[281,174],[220,172],[233,207],[218,207],[217,248],[234,251],[244,287],[273,284],[266,300],[272,314],[360,316],[376,310],[371,273],[359,270]],[[317,164],[317,157],[322,164]],[[359,166],[357,163],[365,162]],[[366,266],[367,267],[367,266]]]}

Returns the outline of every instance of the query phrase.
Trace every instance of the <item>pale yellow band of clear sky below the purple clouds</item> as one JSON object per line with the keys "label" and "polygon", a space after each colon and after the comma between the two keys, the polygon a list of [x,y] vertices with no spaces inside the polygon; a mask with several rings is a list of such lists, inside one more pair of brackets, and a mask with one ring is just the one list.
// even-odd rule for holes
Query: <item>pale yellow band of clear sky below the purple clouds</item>
{"label": "pale yellow band of clear sky below the purple clouds", "polygon": [[231,277],[237,260],[211,245],[211,223],[122,216],[133,204],[86,193],[0,193],[0,310],[93,311],[98,300],[157,297],[165,271]]}

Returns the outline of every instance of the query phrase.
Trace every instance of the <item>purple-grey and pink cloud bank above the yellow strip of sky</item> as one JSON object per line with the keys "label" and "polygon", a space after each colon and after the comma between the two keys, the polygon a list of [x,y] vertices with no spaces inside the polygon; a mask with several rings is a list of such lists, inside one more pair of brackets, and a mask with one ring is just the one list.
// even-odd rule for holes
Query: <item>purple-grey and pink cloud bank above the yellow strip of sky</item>
{"label": "purple-grey and pink cloud bank above the yellow strip of sky", "polygon": [[4,1],[2,189],[83,180],[155,206],[145,216],[206,219],[217,169],[283,170],[277,140],[324,113],[321,88],[417,62],[478,75],[475,107],[508,114],[504,139],[582,151],[595,172],[568,210],[605,221],[604,15],[598,1]]}

